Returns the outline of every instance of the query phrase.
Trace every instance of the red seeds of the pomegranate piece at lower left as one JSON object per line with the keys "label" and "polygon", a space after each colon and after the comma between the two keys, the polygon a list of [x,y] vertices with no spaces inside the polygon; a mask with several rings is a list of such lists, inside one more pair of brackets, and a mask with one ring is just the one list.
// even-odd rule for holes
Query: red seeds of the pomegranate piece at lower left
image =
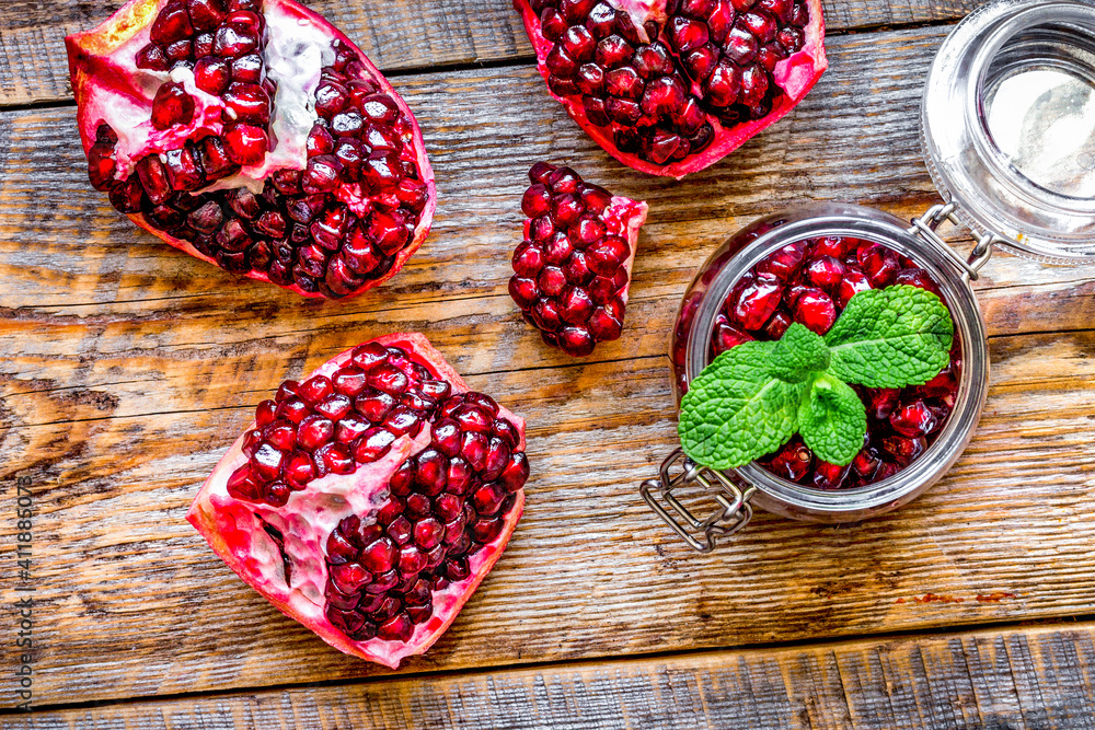
{"label": "red seeds of the pomegranate piece at lower left", "polygon": [[362,345],[330,376],[286,381],[258,405],[228,493],[284,507],[429,428],[379,510],[345,518],[326,542],[332,625],[355,640],[406,641],[433,614],[433,592],[468,578],[468,558],[499,535],[528,479],[520,433],[498,413],[487,395],[452,394],[402,348]]}

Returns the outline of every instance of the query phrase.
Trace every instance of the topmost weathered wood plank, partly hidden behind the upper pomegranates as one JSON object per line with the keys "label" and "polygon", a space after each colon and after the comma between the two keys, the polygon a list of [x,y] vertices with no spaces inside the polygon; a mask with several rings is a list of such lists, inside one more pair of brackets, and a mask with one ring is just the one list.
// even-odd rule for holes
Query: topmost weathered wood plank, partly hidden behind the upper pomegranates
{"label": "topmost weathered wood plank, partly hidden behind the upper pomegranates", "polygon": [[[122,4],[120,0],[5,2],[0,15],[0,106],[69,100],[65,36],[94,27]],[[511,0],[307,4],[349,35],[384,72],[532,58]],[[827,0],[825,11],[829,32],[842,33],[955,21],[976,5],[975,0]]]}

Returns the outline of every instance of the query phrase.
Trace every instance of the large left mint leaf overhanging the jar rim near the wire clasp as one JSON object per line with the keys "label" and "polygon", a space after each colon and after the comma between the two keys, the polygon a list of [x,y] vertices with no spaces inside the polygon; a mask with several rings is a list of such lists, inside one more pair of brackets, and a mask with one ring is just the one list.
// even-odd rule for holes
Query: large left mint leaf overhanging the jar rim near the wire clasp
{"label": "large left mint leaf overhanging the jar rim near the wire clasp", "polygon": [[775,451],[798,429],[808,383],[771,374],[775,343],[742,343],[689,384],[678,425],[684,453],[711,468],[734,468]]}

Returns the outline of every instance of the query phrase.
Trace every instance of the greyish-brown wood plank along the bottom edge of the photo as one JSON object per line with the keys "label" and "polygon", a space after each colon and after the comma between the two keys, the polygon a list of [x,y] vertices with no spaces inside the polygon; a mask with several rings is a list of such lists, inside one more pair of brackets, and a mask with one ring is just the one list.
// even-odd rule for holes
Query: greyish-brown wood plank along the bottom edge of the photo
{"label": "greyish-brown wood plank along the bottom edge of the photo", "polygon": [[1092,624],[440,674],[2,717],[0,730],[1090,730]]}

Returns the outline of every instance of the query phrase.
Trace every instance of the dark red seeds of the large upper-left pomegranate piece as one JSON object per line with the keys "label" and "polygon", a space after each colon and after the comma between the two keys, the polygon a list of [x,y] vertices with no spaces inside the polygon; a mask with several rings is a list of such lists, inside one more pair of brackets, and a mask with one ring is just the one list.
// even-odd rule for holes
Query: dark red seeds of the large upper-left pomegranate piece
{"label": "dark red seeds of the large upper-left pomegranate piece", "polygon": [[[120,212],[141,213],[229,271],[261,273],[307,294],[355,293],[392,269],[422,220],[429,190],[418,170],[414,124],[369,78],[357,53],[334,40],[335,61],[322,69],[315,91],[319,118],[308,136],[307,166],[274,171],[258,195],[243,186],[203,193],[241,166],[261,163],[275,143],[268,130],[278,114],[276,83],[266,76],[265,44],[261,0],[168,3],[137,65],[191,69],[196,85],[222,101],[223,130],[147,154],[117,179],[118,136],[102,123],[88,153],[92,184],[108,192]],[[163,83],[152,125],[185,127],[194,107],[181,83]]]}

